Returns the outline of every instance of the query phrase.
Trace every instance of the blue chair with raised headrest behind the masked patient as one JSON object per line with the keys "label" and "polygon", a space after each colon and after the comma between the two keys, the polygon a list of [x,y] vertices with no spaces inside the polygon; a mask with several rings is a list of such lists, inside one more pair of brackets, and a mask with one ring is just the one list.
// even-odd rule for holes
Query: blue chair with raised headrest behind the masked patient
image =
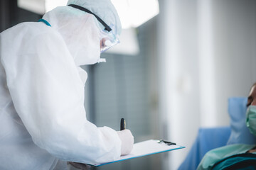
{"label": "blue chair with raised headrest behind the masked patient", "polygon": [[229,98],[228,114],[230,115],[230,126],[199,128],[191,150],[178,169],[196,169],[206,152],[217,147],[237,143],[255,144],[256,137],[250,134],[245,125],[246,103],[247,98],[245,97]]}

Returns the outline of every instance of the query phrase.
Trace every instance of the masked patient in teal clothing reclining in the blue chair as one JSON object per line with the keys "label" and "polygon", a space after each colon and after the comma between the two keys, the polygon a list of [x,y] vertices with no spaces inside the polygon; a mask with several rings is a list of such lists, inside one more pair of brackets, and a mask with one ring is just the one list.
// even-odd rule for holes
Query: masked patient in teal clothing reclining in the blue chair
{"label": "masked patient in teal clothing reclining in the blue chair", "polygon": [[[246,116],[247,127],[253,135],[256,135],[256,83],[252,85],[250,94],[248,96]],[[238,168],[234,168],[234,166]],[[227,145],[225,147],[210,150],[203,157],[197,169],[225,168],[256,169],[256,144]]]}

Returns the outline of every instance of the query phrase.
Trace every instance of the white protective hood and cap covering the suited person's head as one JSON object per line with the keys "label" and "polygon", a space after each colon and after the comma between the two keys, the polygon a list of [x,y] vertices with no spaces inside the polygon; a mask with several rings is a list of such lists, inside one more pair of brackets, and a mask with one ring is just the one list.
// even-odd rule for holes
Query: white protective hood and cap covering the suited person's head
{"label": "white protective hood and cap covering the suited person's head", "polygon": [[[122,27],[117,11],[109,0],[68,1],[87,8],[107,23],[114,35],[121,33]],[[105,62],[100,59],[100,30],[105,27],[95,16],[71,6],[59,6],[43,16],[63,37],[75,64],[95,64]]]}

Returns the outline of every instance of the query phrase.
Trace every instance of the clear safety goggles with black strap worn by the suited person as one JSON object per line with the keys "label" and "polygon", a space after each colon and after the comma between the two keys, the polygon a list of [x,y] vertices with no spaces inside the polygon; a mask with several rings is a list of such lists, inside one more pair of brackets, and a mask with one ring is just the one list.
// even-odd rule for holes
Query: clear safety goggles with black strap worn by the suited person
{"label": "clear safety goggles with black strap worn by the suited person", "polygon": [[110,26],[107,26],[107,23],[102,21],[100,17],[98,17],[95,13],[92,13],[91,11],[87,10],[87,8],[83,8],[82,6],[78,6],[75,4],[70,4],[68,6],[72,6],[73,8],[78,8],[81,11],[85,11],[87,13],[92,14],[97,18],[97,21],[99,21],[104,27],[104,30],[100,30],[100,52],[105,52],[106,50],[110,49],[110,47],[113,47],[114,45],[117,45],[119,43],[119,36],[115,35],[113,33],[113,30],[110,28]]}

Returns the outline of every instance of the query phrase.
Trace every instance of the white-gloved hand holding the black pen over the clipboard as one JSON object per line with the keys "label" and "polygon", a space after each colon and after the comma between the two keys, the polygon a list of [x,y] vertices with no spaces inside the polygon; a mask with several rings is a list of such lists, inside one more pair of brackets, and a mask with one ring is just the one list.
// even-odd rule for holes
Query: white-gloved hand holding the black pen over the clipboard
{"label": "white-gloved hand holding the black pen over the clipboard", "polygon": [[121,155],[129,154],[132,151],[132,147],[134,144],[134,137],[132,135],[132,132],[126,129],[117,131],[117,135],[122,142]]}

